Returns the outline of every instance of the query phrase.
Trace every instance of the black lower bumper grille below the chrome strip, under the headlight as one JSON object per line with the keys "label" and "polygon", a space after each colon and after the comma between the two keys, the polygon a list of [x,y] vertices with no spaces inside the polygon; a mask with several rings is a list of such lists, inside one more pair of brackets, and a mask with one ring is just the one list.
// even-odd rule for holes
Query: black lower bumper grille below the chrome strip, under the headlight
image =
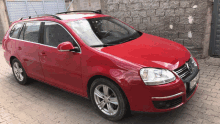
{"label": "black lower bumper grille below the chrome strip, under the headlight", "polygon": [[153,101],[154,107],[157,109],[169,109],[182,103],[182,96],[172,100]]}

